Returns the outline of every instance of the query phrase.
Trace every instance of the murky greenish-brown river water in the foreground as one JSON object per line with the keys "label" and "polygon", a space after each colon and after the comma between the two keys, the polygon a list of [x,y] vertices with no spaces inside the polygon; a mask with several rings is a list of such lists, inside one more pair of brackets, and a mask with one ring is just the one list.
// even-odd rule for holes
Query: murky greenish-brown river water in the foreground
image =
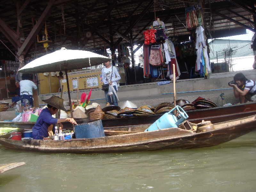
{"label": "murky greenish-brown river water in the foreground", "polygon": [[256,191],[256,131],[198,149],[111,154],[43,154],[0,145],[1,192]]}

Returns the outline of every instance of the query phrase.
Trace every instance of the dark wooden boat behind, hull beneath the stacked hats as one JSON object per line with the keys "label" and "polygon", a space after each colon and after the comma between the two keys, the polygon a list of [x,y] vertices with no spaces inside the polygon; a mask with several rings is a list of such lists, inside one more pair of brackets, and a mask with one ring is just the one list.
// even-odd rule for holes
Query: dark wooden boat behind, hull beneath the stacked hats
{"label": "dark wooden boat behind, hull beneath the stacked hats", "polygon": [[[188,114],[188,121],[191,123],[200,123],[203,119],[207,119],[212,123],[219,123],[223,121],[234,120],[237,118],[256,115],[256,102],[236,104],[224,107],[197,109],[192,111],[186,111]],[[148,115],[148,116],[134,116],[126,118],[113,118],[102,119],[102,125],[104,128],[119,128],[126,126],[146,125],[154,123],[160,116]],[[92,120],[77,120],[78,124],[84,124],[92,122]],[[72,129],[72,124],[69,122],[63,122],[64,129]],[[0,127],[19,127],[23,129],[32,129],[35,122],[0,122]]]}

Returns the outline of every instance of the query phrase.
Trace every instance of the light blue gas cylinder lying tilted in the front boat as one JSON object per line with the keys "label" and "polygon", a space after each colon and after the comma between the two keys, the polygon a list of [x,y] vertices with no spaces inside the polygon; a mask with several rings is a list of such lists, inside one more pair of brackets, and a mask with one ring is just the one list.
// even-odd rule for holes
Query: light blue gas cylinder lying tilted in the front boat
{"label": "light blue gas cylinder lying tilted in the front boat", "polygon": [[[174,109],[176,109],[179,112],[180,114],[179,119],[177,119],[177,117],[172,114]],[[180,111],[182,111],[182,113]],[[155,131],[158,129],[167,129],[171,127],[178,127],[178,125],[181,124],[183,121],[185,121],[187,118],[188,118],[187,113],[180,106],[177,105],[171,111],[169,111],[168,113],[165,113],[163,116],[157,119],[152,125],[148,127],[148,129],[145,130],[145,132]]]}

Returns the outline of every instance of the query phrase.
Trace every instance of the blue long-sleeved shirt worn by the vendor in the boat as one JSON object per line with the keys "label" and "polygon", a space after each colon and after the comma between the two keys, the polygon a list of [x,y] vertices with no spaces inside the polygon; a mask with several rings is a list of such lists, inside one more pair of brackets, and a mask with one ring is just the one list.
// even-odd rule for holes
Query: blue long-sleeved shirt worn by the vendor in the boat
{"label": "blue long-sleeved shirt worn by the vendor in the boat", "polygon": [[[32,128],[32,133],[37,134],[38,131],[43,128],[43,124],[45,123],[47,127],[53,124],[57,124],[58,119],[53,118],[51,112],[49,111],[48,108],[44,108],[40,115],[38,116],[36,120],[36,124]],[[47,132],[47,130],[46,130]]]}

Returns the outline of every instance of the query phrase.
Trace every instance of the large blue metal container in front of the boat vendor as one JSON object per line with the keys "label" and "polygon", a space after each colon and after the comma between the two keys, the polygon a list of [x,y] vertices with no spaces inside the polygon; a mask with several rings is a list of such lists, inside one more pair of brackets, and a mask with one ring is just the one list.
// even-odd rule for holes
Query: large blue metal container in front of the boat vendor
{"label": "large blue metal container in front of the boat vendor", "polygon": [[76,139],[105,137],[101,119],[91,123],[75,125]]}

